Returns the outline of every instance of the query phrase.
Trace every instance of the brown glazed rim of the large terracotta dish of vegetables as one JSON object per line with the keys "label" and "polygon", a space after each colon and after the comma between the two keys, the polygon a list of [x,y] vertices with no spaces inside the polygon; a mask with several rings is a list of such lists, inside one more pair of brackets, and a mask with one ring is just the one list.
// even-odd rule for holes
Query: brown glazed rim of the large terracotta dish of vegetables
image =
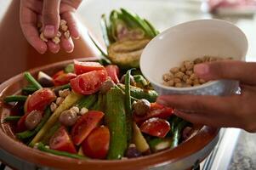
{"label": "brown glazed rim of the large terracotta dish of vegetables", "polygon": [[[81,59],[81,60],[95,60],[95,59],[98,59],[98,58],[87,58],[87,59]],[[72,61],[73,59],[61,61],[51,65],[44,65],[41,67],[37,67],[29,71],[33,74],[35,72],[42,71],[50,67],[53,68],[54,66],[57,66],[57,65],[59,66],[66,65],[71,63]],[[8,88],[14,82],[20,81],[22,77],[23,77],[23,73],[20,73],[19,75],[10,78],[8,81],[3,82],[0,85],[0,96],[3,96],[4,89]],[[0,112],[2,112],[3,110],[3,107],[1,105],[3,105],[3,103],[1,104],[0,102],[0,109],[1,109]],[[127,166],[125,169],[128,169],[128,167],[134,167],[134,166],[138,167],[139,169],[139,168],[145,168],[145,167],[151,167],[151,166],[154,167],[157,165],[172,163],[175,161],[179,161],[180,159],[189,157],[199,152],[200,150],[203,150],[203,148],[208,146],[208,144],[211,144],[213,139],[215,139],[219,134],[218,128],[204,126],[202,127],[202,129],[199,130],[199,132],[194,137],[192,137],[191,139],[189,139],[183,144],[179,144],[179,146],[174,148],[173,150],[163,150],[161,152],[154,153],[149,156],[141,156],[133,159],[108,161],[108,160],[78,160],[78,159],[73,159],[65,156],[55,156],[53,154],[49,154],[40,150],[32,149],[26,144],[23,144],[19,141],[14,140],[6,132],[3,132],[3,131],[6,131],[6,129],[3,128],[3,124],[1,123],[0,148],[7,151],[9,154],[18,157],[21,160],[35,163],[37,165],[42,165],[45,167],[66,168],[66,164],[68,164],[70,166],[71,165],[75,167],[77,166],[76,168],[79,168],[79,169],[81,169],[82,167],[95,168],[95,169],[97,169],[97,167],[98,168],[100,167],[122,168],[123,166]],[[197,143],[199,144],[193,145]],[[180,152],[182,154],[179,154],[179,156],[176,156],[176,153],[180,153]],[[175,154],[172,154],[172,153],[175,153]]]}

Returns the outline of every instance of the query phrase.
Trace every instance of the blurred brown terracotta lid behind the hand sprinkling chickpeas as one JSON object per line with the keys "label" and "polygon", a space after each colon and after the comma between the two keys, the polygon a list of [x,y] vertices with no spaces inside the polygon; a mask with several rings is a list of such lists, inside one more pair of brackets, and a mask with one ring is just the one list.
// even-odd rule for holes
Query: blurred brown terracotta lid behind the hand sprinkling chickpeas
{"label": "blurred brown terracotta lid behind the hand sprinkling chickpeas", "polygon": [[[5,1],[5,0],[4,0]],[[2,3],[2,4],[1,4]],[[0,82],[28,69],[54,63],[60,60],[92,57],[99,52],[90,41],[86,28],[80,39],[75,40],[75,48],[71,54],[61,51],[58,54],[38,54],[23,36],[20,29],[20,0],[0,1]]]}

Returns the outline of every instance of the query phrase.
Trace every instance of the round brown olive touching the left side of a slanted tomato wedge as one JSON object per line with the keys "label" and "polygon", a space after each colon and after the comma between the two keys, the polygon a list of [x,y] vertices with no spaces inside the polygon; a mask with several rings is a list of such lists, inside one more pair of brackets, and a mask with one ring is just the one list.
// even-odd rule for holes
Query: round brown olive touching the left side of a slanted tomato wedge
{"label": "round brown olive touching the left side of a slanted tomato wedge", "polygon": [[72,110],[63,111],[60,114],[59,121],[65,127],[71,127],[77,122],[77,113]]}

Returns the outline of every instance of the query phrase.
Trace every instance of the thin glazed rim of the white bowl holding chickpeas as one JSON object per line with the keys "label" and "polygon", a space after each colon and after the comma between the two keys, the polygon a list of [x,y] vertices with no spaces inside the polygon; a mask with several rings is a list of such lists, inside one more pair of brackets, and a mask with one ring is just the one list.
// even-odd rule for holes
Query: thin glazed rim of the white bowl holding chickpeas
{"label": "thin glazed rim of the white bowl holding chickpeas", "polygon": [[[222,22],[222,23],[224,23],[224,24],[227,24],[227,25],[229,25],[229,26],[233,26],[234,28],[236,28],[236,30],[239,31],[239,32],[242,34],[242,36],[244,37],[244,40],[245,40],[245,42],[246,42],[246,47],[247,47],[246,50],[245,50],[245,55],[247,54],[247,50],[248,50],[248,41],[247,41],[247,37],[246,37],[245,33],[244,33],[238,26],[234,25],[233,23],[231,23],[230,21],[227,21],[227,20],[202,19],[202,20],[191,20],[191,21],[187,21],[187,22],[178,24],[178,25],[176,25],[176,26],[171,26],[171,27],[169,27],[167,30],[162,31],[160,34],[158,34],[156,37],[154,37],[154,38],[151,40],[151,42],[153,42],[155,39],[161,37],[163,34],[168,33],[170,30],[172,30],[172,29],[174,29],[174,28],[176,28],[176,27],[178,27],[178,26],[188,25],[188,24],[191,24],[192,22],[211,21],[211,20],[213,20],[213,21],[218,21],[218,22]],[[151,43],[151,42],[149,42],[149,43]],[[142,52],[141,56],[143,55],[143,53],[144,53],[144,51]],[[244,56],[242,56],[242,57],[244,57]],[[242,57],[241,57],[241,58],[242,58]],[[144,68],[144,67],[141,66],[141,65],[142,65],[142,63],[139,62],[139,67],[140,67],[140,69],[141,69],[141,71],[142,71],[142,73],[143,73],[143,72],[145,72],[145,71],[143,71],[143,68]],[[152,84],[154,84],[154,85],[155,85],[156,87],[158,87],[158,88],[162,88],[162,89],[170,90],[170,91],[179,91],[179,92],[186,92],[186,91],[191,91],[191,90],[195,90],[195,91],[196,91],[196,90],[201,89],[201,88],[207,88],[207,87],[209,87],[209,86],[213,86],[213,85],[217,84],[218,82],[220,82],[220,80],[214,80],[214,81],[206,82],[206,83],[204,83],[204,84],[202,84],[202,85],[200,85],[200,86],[186,87],[186,88],[175,88],[175,87],[164,86],[164,85],[162,85],[160,82],[158,83],[158,82],[152,80],[151,77],[148,77],[148,75],[143,74],[143,76],[145,76],[145,78],[146,78],[147,80],[149,80]]]}

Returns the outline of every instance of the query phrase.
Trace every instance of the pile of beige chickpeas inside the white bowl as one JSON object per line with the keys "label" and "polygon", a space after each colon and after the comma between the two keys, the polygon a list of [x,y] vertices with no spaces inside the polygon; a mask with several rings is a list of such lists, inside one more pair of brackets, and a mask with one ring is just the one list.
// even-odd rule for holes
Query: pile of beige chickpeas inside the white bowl
{"label": "pile of beige chickpeas inside the white bowl", "polygon": [[194,66],[200,63],[208,63],[232,58],[221,58],[213,56],[203,56],[194,60],[185,60],[180,66],[171,68],[167,73],[162,75],[162,84],[175,88],[190,88],[200,86],[207,81],[196,76]]}

